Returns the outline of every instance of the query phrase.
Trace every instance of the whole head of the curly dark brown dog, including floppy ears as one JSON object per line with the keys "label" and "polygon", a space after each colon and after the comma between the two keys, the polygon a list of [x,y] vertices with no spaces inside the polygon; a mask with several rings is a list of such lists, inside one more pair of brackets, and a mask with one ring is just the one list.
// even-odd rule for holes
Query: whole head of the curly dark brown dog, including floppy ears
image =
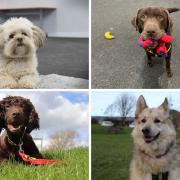
{"label": "whole head of the curly dark brown dog, including floppy ears", "polygon": [[26,133],[39,128],[39,117],[29,99],[8,96],[0,101],[0,128],[9,133]]}

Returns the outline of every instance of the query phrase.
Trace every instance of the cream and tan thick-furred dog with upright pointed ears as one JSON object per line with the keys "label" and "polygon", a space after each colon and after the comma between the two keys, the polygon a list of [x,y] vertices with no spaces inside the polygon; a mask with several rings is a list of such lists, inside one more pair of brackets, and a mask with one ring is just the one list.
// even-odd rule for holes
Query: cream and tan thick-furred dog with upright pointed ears
{"label": "cream and tan thick-furred dog with upright pointed ears", "polygon": [[149,108],[140,96],[135,113],[133,159],[130,180],[152,180],[152,174],[168,172],[168,180],[180,177],[180,144],[169,116],[168,101]]}

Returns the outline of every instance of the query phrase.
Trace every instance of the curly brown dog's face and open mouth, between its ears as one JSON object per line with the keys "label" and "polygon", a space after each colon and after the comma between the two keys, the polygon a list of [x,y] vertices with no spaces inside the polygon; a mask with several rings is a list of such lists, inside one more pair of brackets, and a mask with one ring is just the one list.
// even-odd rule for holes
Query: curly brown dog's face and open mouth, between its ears
{"label": "curly brown dog's face and open mouth, between its ears", "polygon": [[28,113],[22,106],[6,107],[6,127],[13,134],[23,132],[28,122]]}

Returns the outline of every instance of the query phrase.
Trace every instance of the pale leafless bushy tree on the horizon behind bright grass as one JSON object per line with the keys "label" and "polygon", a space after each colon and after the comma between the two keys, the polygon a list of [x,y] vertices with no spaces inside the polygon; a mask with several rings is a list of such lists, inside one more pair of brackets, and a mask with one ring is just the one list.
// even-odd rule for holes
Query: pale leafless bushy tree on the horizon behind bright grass
{"label": "pale leafless bushy tree on the horizon behind bright grass", "polygon": [[76,138],[78,133],[73,130],[66,130],[61,132],[55,132],[51,135],[50,145],[48,149],[69,149],[76,145]]}

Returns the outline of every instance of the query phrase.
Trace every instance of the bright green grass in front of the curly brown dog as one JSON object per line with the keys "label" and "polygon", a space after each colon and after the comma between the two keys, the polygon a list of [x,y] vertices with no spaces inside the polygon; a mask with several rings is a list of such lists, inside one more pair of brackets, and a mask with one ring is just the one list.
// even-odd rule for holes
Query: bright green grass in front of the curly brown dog
{"label": "bright green grass in front of the curly brown dog", "polygon": [[88,148],[66,151],[45,151],[49,159],[64,160],[64,164],[27,166],[19,163],[5,163],[0,168],[1,180],[87,180]]}

